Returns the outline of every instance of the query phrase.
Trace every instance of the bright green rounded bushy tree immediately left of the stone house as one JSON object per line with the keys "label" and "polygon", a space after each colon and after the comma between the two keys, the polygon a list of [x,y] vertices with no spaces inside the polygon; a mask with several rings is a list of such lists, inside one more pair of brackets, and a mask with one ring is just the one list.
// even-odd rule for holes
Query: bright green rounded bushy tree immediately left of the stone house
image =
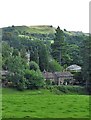
{"label": "bright green rounded bushy tree immediately left of the stone house", "polygon": [[25,70],[25,78],[28,89],[40,88],[44,85],[44,78],[39,66],[34,61],[30,62],[30,69]]}

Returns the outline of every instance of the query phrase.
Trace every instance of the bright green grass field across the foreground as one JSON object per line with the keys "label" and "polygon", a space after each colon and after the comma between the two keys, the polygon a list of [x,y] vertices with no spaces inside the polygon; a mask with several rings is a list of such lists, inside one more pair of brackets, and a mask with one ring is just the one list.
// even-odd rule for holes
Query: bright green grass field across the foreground
{"label": "bright green grass field across the foreground", "polygon": [[54,95],[48,90],[3,89],[3,118],[87,118],[88,95]]}

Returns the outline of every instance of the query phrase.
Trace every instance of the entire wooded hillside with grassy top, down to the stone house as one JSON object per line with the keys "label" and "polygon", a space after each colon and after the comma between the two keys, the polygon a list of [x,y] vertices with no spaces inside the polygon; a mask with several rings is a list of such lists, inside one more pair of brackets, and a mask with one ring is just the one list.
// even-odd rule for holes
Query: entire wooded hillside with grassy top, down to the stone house
{"label": "entire wooded hillside with grassy top, down to the stone house", "polygon": [[90,90],[91,40],[89,34],[53,26],[3,28],[2,69],[8,82],[19,90],[45,85],[42,72],[65,71],[69,65],[82,67],[73,73]]}

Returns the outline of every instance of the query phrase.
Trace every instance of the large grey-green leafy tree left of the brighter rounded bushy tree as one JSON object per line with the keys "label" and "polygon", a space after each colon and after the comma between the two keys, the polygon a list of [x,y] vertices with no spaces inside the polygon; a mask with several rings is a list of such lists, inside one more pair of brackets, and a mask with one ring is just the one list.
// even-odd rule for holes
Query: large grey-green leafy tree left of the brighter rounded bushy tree
{"label": "large grey-green leafy tree left of the brighter rounded bushy tree", "polygon": [[12,82],[13,87],[19,90],[26,88],[24,71],[26,68],[26,63],[20,56],[10,56],[7,61],[7,69],[9,75],[7,79]]}

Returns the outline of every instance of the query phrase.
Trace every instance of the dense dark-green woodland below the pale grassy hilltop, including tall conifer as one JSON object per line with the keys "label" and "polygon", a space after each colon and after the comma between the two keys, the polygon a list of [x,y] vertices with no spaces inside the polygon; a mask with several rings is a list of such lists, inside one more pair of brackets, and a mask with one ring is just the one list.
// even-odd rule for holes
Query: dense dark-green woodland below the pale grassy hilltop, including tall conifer
{"label": "dense dark-green woodland below the pale grassy hilltop, including tall conifer", "polygon": [[[17,81],[14,83],[15,86],[24,85],[23,88],[26,88],[25,83],[28,85],[29,76],[32,75],[35,75],[34,78],[40,76],[40,80],[44,84],[41,74],[43,70],[62,71],[71,64],[78,64],[82,67],[82,80],[86,82],[89,68],[87,67],[89,61],[87,60],[90,56],[90,53],[88,53],[88,49],[90,49],[88,48],[90,42],[88,36],[83,34],[71,37],[62,31],[60,27],[56,29],[53,43],[31,37],[20,37],[19,34],[15,27],[3,29],[2,68],[10,71],[8,77],[13,83]],[[27,64],[27,54],[30,57],[29,64]],[[30,69],[31,64],[34,64],[33,66],[37,67],[37,70]],[[37,74],[35,74],[36,72]]]}

